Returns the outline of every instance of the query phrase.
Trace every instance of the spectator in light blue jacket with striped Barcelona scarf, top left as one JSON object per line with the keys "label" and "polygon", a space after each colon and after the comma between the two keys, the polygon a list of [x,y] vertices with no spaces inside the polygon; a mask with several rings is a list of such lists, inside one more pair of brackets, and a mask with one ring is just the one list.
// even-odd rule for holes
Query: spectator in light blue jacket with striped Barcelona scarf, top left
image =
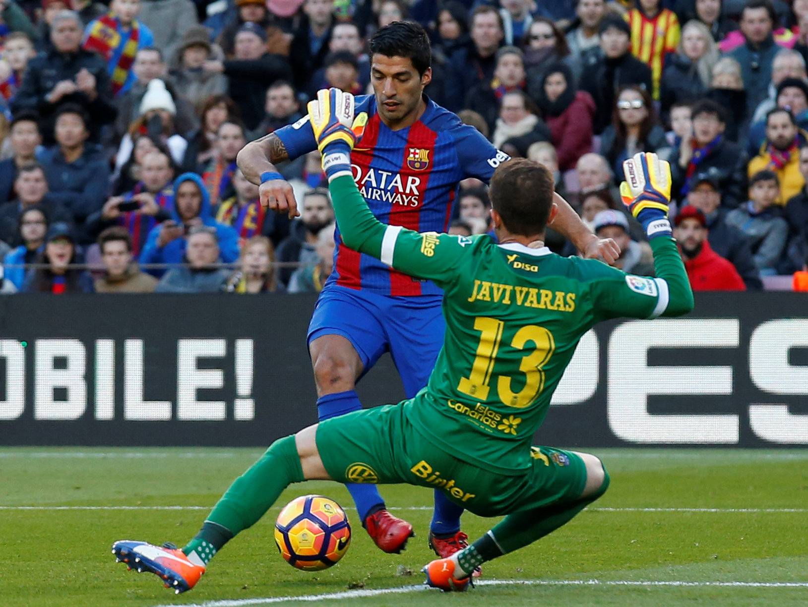
{"label": "spectator in light blue jacket with striped Barcelona scarf, top left", "polygon": [[137,19],[140,0],[112,0],[110,12],[95,19],[84,31],[83,47],[107,61],[112,94],[124,95],[137,79],[132,64],[139,48],[154,46],[149,27]]}

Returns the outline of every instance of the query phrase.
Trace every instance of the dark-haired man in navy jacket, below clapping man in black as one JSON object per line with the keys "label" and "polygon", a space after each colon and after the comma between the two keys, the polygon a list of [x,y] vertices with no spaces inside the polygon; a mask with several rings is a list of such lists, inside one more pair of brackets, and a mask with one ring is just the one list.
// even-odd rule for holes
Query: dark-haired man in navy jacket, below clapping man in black
{"label": "dark-haired man in navy jacket, below clapping man in black", "polygon": [[[57,145],[42,158],[48,198],[61,204],[82,226],[107,200],[109,164],[99,145],[87,142],[89,117],[81,106],[65,103],[57,110]],[[83,234],[78,234],[82,239]]]}

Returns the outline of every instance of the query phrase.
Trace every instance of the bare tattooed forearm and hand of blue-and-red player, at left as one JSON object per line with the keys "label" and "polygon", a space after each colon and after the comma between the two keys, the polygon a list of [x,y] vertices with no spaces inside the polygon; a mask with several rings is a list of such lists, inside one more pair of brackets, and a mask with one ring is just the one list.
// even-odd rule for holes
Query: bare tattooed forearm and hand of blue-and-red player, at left
{"label": "bare tattooed forearm and hand of blue-and-red player, at left", "polygon": [[238,153],[236,162],[246,179],[259,186],[261,204],[276,213],[286,213],[292,219],[300,213],[297,212],[297,200],[288,181],[271,179],[261,183],[262,173],[276,173],[278,170],[274,163],[288,158],[289,153],[284,142],[280,141],[276,133],[269,133],[245,145]]}

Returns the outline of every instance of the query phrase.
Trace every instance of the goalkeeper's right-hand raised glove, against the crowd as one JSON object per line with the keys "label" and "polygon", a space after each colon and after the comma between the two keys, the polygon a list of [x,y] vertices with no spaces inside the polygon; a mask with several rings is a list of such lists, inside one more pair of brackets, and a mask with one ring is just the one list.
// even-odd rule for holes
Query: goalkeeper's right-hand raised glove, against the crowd
{"label": "goalkeeper's right-hand raised glove, against the crowd", "polygon": [[631,214],[642,224],[648,238],[671,236],[667,219],[671,202],[671,165],[650,152],[634,154],[623,162],[625,181],[620,195]]}

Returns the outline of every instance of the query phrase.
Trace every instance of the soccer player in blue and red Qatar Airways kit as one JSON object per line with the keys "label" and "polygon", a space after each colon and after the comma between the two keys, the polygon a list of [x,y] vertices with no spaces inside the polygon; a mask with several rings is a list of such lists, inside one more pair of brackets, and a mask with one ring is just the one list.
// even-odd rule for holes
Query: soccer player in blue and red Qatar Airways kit
{"label": "soccer player in blue and red Qatar Airways kit", "polygon": [[[423,27],[409,22],[382,27],[370,40],[370,52],[374,95],[356,98],[356,113],[368,113],[364,135],[351,153],[356,184],[379,221],[419,232],[445,232],[461,179],[476,177],[487,183],[508,156],[423,94],[432,77]],[[317,141],[306,116],[246,145],[238,154],[238,166],[247,179],[260,184],[262,204],[297,217],[292,187],[272,163],[312,150],[317,150]],[[613,241],[591,234],[560,196],[555,202],[560,212],[554,229],[588,257],[617,257]],[[308,333],[320,421],[362,408],[356,381],[385,352],[393,357],[407,398],[414,396],[426,386],[444,336],[442,292],[436,285],[348,249],[339,226],[335,240],[334,271]],[[387,511],[376,485],[362,483],[373,479],[362,474],[356,470],[351,478],[357,483],[347,485],[360,520],[381,550],[398,553],[413,535],[412,525]],[[429,542],[441,557],[466,546],[462,512],[436,491]]]}

